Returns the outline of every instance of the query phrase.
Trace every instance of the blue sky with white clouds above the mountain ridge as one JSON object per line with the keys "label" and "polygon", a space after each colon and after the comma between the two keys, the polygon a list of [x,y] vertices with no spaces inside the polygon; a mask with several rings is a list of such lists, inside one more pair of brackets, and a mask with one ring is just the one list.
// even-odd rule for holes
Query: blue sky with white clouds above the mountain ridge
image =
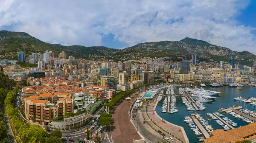
{"label": "blue sky with white clouds above the mountain ridge", "polygon": [[256,0],[0,0],[0,30],[116,49],[190,37],[256,54]]}

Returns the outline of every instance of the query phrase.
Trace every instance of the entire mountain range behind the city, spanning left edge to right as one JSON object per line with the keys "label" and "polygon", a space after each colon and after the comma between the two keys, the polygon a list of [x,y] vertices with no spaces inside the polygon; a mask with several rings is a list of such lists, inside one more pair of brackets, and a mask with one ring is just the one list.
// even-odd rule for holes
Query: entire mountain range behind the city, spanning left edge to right
{"label": "entire mountain range behind the city, spanning left edge to right", "polygon": [[198,54],[199,61],[235,59],[236,63],[252,65],[252,62],[256,60],[256,56],[248,51],[237,52],[189,37],[180,41],[145,42],[118,50],[103,46],[84,47],[49,44],[24,32],[0,31],[0,59],[17,59],[18,51],[24,51],[26,55],[29,55],[33,52],[44,53],[45,50],[54,51],[55,56],[61,51],[65,51],[69,56],[92,60],[125,61],[143,57],[167,56],[169,60],[182,61],[192,59],[192,53]]}

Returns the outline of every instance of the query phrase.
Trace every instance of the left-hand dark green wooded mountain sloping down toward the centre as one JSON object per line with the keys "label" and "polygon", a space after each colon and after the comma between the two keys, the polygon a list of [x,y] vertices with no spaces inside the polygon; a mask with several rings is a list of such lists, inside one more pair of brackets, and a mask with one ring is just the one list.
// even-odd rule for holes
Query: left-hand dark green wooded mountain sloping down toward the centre
{"label": "left-hand dark green wooded mountain sloping down toward the centre", "polygon": [[118,51],[118,49],[103,46],[84,47],[49,44],[24,32],[0,31],[0,59],[17,59],[17,52],[19,51],[24,51],[26,55],[29,55],[33,52],[44,53],[45,50],[52,50],[55,52],[55,56],[61,51],[65,51],[69,56],[97,60],[105,59],[105,57]]}

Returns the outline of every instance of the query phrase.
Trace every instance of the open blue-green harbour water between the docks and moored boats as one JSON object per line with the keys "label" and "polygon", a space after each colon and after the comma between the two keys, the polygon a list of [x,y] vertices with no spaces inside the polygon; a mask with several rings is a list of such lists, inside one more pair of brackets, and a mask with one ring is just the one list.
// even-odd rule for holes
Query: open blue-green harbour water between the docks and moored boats
{"label": "open blue-green harbour water between the docks and moored boats", "polygon": [[[242,88],[243,90],[239,90],[239,88]],[[192,112],[197,112],[202,115],[203,118],[205,118],[206,113],[208,112],[218,112],[219,108],[223,107],[230,107],[233,106],[234,104],[237,104],[239,106],[244,107],[244,102],[240,101],[234,101],[233,99],[236,97],[241,96],[242,98],[248,97],[256,97],[256,88],[253,86],[248,86],[244,85],[244,87],[237,87],[237,88],[232,88],[229,86],[224,86],[224,87],[205,87],[204,89],[206,90],[214,90],[214,91],[219,91],[221,92],[217,98],[215,98],[215,101],[212,103],[205,103],[207,109],[205,111],[192,111]],[[178,93],[178,88],[174,89],[176,93]],[[176,98],[176,107],[179,109],[179,111],[175,114],[167,114],[167,113],[161,113],[162,105],[163,105],[163,100],[159,101],[156,107],[156,112],[157,114],[163,118],[166,121],[169,121],[170,123],[174,123],[178,126],[183,126],[187,137],[189,138],[190,143],[198,143],[197,140],[197,135],[194,134],[192,129],[188,126],[188,124],[184,123],[184,117],[185,116],[191,116],[191,111],[187,111],[185,104],[182,103],[181,98]],[[245,107],[247,109],[255,110],[256,107],[251,107],[250,104],[245,104]],[[233,120],[235,123],[237,123],[238,126],[235,126],[235,128],[239,126],[245,126],[247,123],[244,123],[240,119],[235,119],[233,116],[230,114],[224,114],[225,117],[229,118],[230,120]],[[209,118],[209,116],[207,117]],[[209,125],[212,125],[214,129],[222,129],[221,126],[219,126],[215,120],[208,121]]]}

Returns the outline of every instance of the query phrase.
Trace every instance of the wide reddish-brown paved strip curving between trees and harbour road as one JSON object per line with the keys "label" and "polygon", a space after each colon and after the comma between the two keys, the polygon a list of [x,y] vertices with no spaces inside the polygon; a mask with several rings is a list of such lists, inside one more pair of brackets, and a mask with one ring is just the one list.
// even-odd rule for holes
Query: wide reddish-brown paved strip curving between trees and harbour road
{"label": "wide reddish-brown paved strip curving between trees and harbour road", "polygon": [[[134,94],[133,94],[134,95]],[[135,98],[132,98],[134,100]],[[130,121],[128,114],[131,102],[122,101],[115,110],[113,110],[113,125],[111,126],[111,134],[114,143],[133,143],[133,140],[142,139],[137,134],[136,129]]]}

